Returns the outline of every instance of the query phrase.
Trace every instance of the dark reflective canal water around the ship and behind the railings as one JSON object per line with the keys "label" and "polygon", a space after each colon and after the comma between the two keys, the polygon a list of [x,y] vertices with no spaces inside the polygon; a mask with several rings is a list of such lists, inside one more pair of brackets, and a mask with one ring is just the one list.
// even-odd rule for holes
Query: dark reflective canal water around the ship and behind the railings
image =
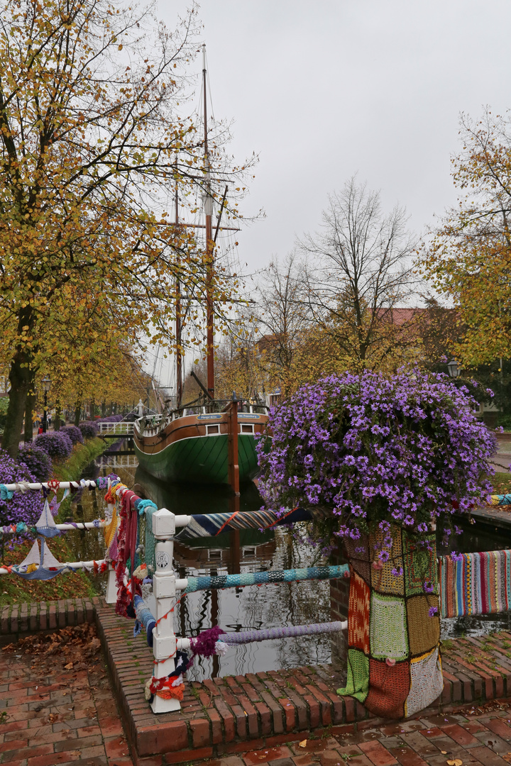
{"label": "dark reflective canal water around the ship and behind the railings", "polygon": [[[136,464],[128,444],[109,450],[87,468],[85,477],[95,478],[117,473],[126,486],[137,494],[152,499],[159,508],[168,508],[175,514],[228,512],[231,499],[228,491],[208,487],[172,486],[154,479]],[[260,508],[260,496],[255,485],[242,490],[241,510]],[[103,493],[85,491],[74,506],[74,521],[90,521],[104,517]],[[102,558],[103,536],[89,532],[69,533],[67,538],[78,559]],[[467,524],[462,535],[439,548],[440,554],[456,549],[459,552],[490,551],[511,546],[511,537],[499,532],[477,529]],[[198,538],[186,543],[176,542],[175,569],[179,577],[200,575],[226,575],[234,572],[252,572],[269,569],[287,569],[326,563],[314,549],[296,542],[293,532],[277,528],[260,532],[241,530],[217,538]],[[104,588],[104,576],[98,580]],[[154,601],[149,597],[149,606]],[[347,604],[346,604],[347,606]],[[225,591],[198,591],[187,594],[175,608],[175,633],[195,636],[201,630],[218,625],[226,632],[254,630],[269,627],[328,622],[330,597],[328,581],[276,583],[230,588]],[[480,635],[492,630],[511,629],[510,614],[487,617],[463,617],[442,621],[442,637]],[[343,660],[336,652],[336,660]],[[201,658],[188,672],[191,680],[215,676],[257,673],[316,663],[332,659],[332,642],[328,635],[287,638],[248,643],[228,650],[226,656]]]}

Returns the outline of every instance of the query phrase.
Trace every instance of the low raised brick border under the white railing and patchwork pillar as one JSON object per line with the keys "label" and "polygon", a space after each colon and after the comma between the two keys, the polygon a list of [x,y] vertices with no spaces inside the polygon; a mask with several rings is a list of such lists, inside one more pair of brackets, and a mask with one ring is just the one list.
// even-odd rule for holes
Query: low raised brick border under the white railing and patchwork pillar
{"label": "low raised brick border under the white railing and patchwork pillar", "polygon": [[[343,686],[344,668],[332,665],[187,684],[179,712],[154,715],[143,696],[152,673],[151,650],[143,637],[133,638],[130,625],[110,607],[98,607],[97,620],[140,766],[195,763],[218,754],[235,755],[248,743],[259,750],[274,748],[311,734],[337,736],[379,723],[355,699],[336,694]],[[446,642],[442,660],[444,692],[437,711],[511,698],[511,633]]]}

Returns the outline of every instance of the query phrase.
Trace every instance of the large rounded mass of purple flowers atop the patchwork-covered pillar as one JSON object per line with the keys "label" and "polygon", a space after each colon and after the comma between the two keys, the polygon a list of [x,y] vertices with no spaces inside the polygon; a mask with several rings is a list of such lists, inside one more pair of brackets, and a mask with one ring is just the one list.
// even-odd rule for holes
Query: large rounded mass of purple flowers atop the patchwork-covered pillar
{"label": "large rounded mass of purple flowers atop the patchwork-covered pillar", "polygon": [[491,491],[483,477],[496,438],[474,408],[466,387],[420,370],[304,385],[270,410],[271,442],[258,440],[264,502],[329,509],[339,518],[331,534],[345,538],[379,529],[386,539],[382,522],[424,538],[431,519],[470,511]]}

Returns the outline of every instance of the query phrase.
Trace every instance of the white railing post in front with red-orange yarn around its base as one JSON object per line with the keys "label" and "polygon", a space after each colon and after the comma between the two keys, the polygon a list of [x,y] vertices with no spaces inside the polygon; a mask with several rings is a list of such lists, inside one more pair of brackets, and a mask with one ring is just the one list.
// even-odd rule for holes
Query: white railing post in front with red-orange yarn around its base
{"label": "white railing post in front with red-orange yarn around its base", "polygon": [[[175,604],[175,574],[172,568],[175,535],[174,514],[166,508],[161,508],[153,513],[152,533],[158,540],[155,545],[155,573],[152,578],[152,594],[156,598],[157,621],[152,633],[152,649],[156,660],[154,677],[163,678],[175,669],[174,613],[170,612]],[[162,699],[157,694],[152,700],[151,707],[152,712],[155,713],[181,709],[178,699]]]}

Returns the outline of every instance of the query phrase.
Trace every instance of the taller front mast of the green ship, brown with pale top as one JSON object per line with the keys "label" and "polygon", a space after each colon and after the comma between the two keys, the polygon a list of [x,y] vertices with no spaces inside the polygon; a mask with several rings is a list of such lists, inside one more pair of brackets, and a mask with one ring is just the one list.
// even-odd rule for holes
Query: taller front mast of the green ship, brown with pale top
{"label": "taller front mast of the green ship, brown with pale top", "polygon": [[211,220],[213,217],[213,198],[211,197],[211,169],[208,150],[208,103],[206,99],[206,46],[202,45],[202,85],[204,88],[204,164],[206,171],[205,182],[205,215],[206,215],[206,356],[208,360],[208,393],[215,398],[215,317],[213,314],[213,252],[215,243]]}

